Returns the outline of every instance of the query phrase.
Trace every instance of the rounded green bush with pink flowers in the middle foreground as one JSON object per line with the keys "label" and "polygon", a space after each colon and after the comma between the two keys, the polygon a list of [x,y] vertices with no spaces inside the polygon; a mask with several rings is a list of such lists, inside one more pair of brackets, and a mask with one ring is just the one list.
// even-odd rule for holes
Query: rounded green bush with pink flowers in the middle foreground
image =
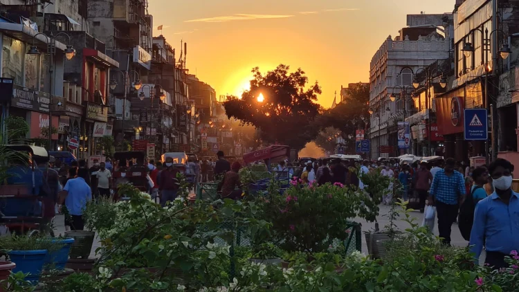
{"label": "rounded green bush with pink flowers in the middle foreground", "polygon": [[364,194],[340,185],[292,185],[284,195],[262,201],[264,219],[275,241],[288,252],[319,253],[349,237],[349,219],[358,214]]}

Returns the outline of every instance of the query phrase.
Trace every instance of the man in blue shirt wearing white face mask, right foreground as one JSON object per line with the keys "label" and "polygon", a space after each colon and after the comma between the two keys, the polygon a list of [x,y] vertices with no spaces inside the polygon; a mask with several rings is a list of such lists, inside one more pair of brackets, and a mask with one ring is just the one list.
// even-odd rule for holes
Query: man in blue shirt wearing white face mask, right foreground
{"label": "man in blue shirt wearing white face mask, right foreground", "polygon": [[513,165],[502,158],[489,166],[495,191],[477,203],[471,231],[471,252],[479,259],[483,246],[485,263],[493,268],[508,266],[504,257],[519,250],[519,194],[513,192]]}

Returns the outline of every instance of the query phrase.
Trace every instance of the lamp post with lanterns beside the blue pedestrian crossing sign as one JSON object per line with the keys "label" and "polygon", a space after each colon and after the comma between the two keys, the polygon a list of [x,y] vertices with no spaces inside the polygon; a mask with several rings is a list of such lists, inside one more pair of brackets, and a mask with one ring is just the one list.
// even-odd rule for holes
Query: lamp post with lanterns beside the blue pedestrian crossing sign
{"label": "lamp post with lanterns beside the blue pedestrian crossing sign", "polygon": [[[492,30],[491,33],[489,34],[489,29],[488,28],[485,28],[485,31],[483,33],[483,30],[481,28],[473,28],[469,33],[468,35],[471,35],[471,33],[475,32],[475,30],[479,31],[481,33],[481,44],[482,44],[482,53],[483,53],[483,58],[481,60],[481,64],[483,65],[486,65],[485,66],[485,98],[484,98],[484,107],[485,109],[489,109],[489,72],[491,70],[493,70],[493,68],[491,69],[490,66],[489,66],[489,53],[491,52],[491,42],[492,42],[492,34],[493,33],[496,33],[496,32],[499,32],[499,33],[502,33],[504,39],[505,39],[505,42],[504,44],[502,44],[500,50],[498,51],[500,57],[502,58],[502,60],[506,60],[508,58],[508,56],[510,55],[511,53],[511,50],[510,50],[510,46],[509,44],[507,44],[506,42],[506,33],[504,33],[503,30],[500,30],[500,29],[495,29],[495,30]],[[495,39],[494,39],[495,41]],[[497,46],[497,44],[495,45]],[[475,52],[475,48],[474,46],[470,43],[470,42],[466,42],[465,45],[463,46],[462,48],[462,51],[463,51],[463,54],[465,55],[465,57],[469,58],[471,57],[472,53]],[[494,64],[495,63],[495,64]],[[498,64],[497,64],[497,58],[495,60],[493,60],[493,64],[492,64],[492,67],[495,66],[495,69],[497,71],[498,69]],[[497,73],[495,73],[494,75],[497,75]],[[490,116],[491,116],[491,124],[492,124],[492,130],[491,130],[491,135],[492,135],[492,138],[491,138],[491,141],[492,141],[492,160],[495,158],[495,154],[497,153],[495,151],[495,145],[494,145],[494,137],[495,137],[495,130],[494,127],[493,127],[493,124],[495,124],[493,122],[493,107],[490,106]],[[490,163],[490,159],[489,159],[489,140],[487,139],[485,141],[485,158],[486,158],[486,165],[489,165]]]}

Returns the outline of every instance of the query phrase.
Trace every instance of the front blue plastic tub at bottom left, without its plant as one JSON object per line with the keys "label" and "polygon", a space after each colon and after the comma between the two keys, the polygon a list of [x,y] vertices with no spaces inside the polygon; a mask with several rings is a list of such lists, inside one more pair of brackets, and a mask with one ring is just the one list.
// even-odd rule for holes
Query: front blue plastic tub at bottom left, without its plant
{"label": "front blue plastic tub at bottom left, without its plant", "polygon": [[12,250],[7,254],[11,262],[16,264],[16,268],[12,269],[12,273],[18,273],[19,271],[30,273],[26,280],[38,282],[45,263],[47,250]]}

